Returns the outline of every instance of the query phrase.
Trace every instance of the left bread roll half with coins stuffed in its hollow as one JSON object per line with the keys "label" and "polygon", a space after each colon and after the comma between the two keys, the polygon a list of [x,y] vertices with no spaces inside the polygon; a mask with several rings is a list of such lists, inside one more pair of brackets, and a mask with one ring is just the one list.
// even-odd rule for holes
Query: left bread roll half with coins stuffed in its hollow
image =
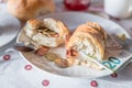
{"label": "left bread roll half with coins stuffed in its hollow", "polygon": [[65,42],[68,29],[59,20],[46,18],[43,21],[29,20],[24,26],[25,34],[37,45],[57,47]]}

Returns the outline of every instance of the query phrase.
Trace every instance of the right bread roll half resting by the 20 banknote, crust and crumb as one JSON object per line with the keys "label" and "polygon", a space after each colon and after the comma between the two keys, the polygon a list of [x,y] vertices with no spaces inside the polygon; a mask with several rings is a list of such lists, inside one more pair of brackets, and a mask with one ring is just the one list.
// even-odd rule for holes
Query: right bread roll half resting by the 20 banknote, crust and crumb
{"label": "right bread roll half resting by the 20 banknote, crust and crumb", "polygon": [[67,51],[72,50],[72,52],[84,51],[90,58],[102,61],[106,38],[106,32],[98,23],[87,22],[76,29],[66,44],[66,48]]}

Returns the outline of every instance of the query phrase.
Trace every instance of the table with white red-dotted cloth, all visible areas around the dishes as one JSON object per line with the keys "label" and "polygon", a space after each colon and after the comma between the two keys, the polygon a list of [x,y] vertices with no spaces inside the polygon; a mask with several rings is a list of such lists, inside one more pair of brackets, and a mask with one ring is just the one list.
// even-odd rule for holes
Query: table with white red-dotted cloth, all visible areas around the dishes
{"label": "table with white red-dotted cloth, all visible areas around the dishes", "polygon": [[[0,1],[0,13],[3,12],[8,14],[6,3],[2,2],[2,0]],[[69,12],[69,10],[65,8],[63,0],[54,1],[56,13]],[[91,0],[87,10],[78,12],[91,13],[111,20],[121,25],[132,36],[132,16],[128,19],[117,19],[108,15],[103,10],[103,0]],[[2,15],[1,19],[2,18],[6,18],[6,15]],[[78,18],[81,16],[78,15]],[[16,26],[16,29],[19,26]],[[7,40],[9,37],[3,38]],[[0,40],[0,43],[2,43],[2,41],[3,40]],[[128,66],[119,73],[99,78],[58,76],[41,70],[31,63],[25,62],[18,51],[12,51],[11,48],[15,41],[16,36],[8,42],[8,44],[0,46],[0,88],[132,88],[132,63],[128,64]],[[131,46],[130,52],[132,52]]]}

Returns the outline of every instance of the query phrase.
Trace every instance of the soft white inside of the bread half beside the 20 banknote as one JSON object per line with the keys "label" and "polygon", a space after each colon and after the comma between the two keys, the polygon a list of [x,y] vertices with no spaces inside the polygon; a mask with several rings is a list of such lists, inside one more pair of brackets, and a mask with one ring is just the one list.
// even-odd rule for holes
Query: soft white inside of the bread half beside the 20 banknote
{"label": "soft white inside of the bread half beside the 20 banknote", "polygon": [[76,36],[76,41],[73,41],[72,45],[73,46],[70,46],[70,50],[75,50],[78,53],[82,51],[89,56],[89,58],[101,57],[98,46],[96,46],[89,37],[84,35]]}

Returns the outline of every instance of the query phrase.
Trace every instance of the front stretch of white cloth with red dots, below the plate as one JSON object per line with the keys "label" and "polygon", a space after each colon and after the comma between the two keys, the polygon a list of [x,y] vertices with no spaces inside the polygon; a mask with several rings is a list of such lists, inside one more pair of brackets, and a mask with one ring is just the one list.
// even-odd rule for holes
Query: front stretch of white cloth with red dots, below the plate
{"label": "front stretch of white cloth with red dots, below the plate", "polygon": [[87,79],[52,75],[25,62],[18,52],[0,56],[0,86],[2,88],[131,88],[132,64],[110,76]]}

